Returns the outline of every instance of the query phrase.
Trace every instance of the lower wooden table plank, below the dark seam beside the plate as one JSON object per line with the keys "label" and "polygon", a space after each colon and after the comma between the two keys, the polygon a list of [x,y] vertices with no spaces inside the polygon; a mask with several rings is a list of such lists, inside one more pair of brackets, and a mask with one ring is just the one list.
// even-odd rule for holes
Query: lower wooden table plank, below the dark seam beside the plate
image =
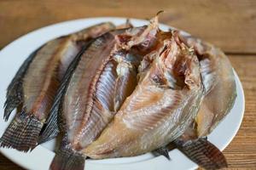
{"label": "lower wooden table plank, below the dark seam beside the plate", "polygon": [[[256,55],[230,56],[246,96],[246,111],[239,132],[231,144],[224,150],[229,162],[229,170],[256,167]],[[0,169],[20,169],[0,154]]]}

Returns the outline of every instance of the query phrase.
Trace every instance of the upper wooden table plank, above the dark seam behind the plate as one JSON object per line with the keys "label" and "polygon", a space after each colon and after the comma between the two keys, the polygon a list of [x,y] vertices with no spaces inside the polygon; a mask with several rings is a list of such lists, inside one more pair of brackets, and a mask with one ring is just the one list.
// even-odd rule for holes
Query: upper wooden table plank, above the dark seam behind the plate
{"label": "upper wooden table plank, above the dark seam behind the plate", "polygon": [[29,31],[64,20],[96,16],[149,18],[189,31],[229,53],[256,53],[256,1],[1,0],[0,48]]}

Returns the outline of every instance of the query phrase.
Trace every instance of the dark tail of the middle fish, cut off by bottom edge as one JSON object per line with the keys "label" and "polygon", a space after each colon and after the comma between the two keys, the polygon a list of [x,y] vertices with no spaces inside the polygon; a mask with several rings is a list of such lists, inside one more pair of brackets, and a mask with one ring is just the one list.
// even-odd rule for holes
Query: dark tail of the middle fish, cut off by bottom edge
{"label": "dark tail of the middle fish, cut off by bottom edge", "polygon": [[84,170],[85,157],[74,152],[68,147],[61,147],[56,152],[54,160],[51,162],[51,170]]}

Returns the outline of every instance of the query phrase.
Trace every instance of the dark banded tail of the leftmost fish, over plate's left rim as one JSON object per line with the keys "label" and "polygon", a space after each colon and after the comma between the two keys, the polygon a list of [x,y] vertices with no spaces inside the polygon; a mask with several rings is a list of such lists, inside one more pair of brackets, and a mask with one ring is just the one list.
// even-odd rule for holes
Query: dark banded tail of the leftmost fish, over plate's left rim
{"label": "dark banded tail of the leftmost fish, over plate's left rim", "polygon": [[44,125],[36,117],[22,111],[15,116],[0,139],[0,146],[29,151],[38,144],[38,135]]}

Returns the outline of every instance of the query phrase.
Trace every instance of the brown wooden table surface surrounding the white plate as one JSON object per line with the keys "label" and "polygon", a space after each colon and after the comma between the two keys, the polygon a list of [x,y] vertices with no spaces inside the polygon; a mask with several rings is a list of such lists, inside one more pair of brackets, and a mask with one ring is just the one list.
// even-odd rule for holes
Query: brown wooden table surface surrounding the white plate
{"label": "brown wooden table surface surrounding the white plate", "polygon": [[[148,19],[161,9],[166,13],[160,22],[189,31],[228,54],[245,91],[246,111],[224,155],[229,169],[256,169],[256,1],[1,0],[0,48],[29,31],[64,20],[96,16]],[[0,169],[21,168],[0,154]]]}

